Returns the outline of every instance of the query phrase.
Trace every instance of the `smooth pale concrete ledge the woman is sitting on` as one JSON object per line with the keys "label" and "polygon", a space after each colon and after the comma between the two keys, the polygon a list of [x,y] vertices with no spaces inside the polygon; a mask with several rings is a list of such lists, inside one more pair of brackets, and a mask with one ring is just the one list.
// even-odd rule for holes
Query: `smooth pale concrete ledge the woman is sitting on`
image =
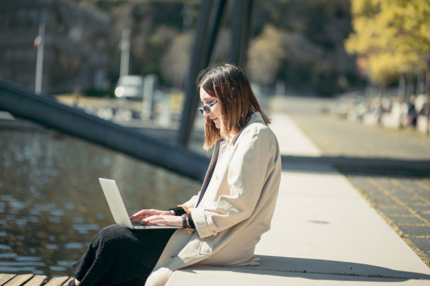
{"label": "smooth pale concrete ledge the woman is sitting on", "polygon": [[429,267],[330,161],[288,160],[322,151],[289,116],[271,118],[284,160],[261,265],[185,268],[167,285],[429,285]]}

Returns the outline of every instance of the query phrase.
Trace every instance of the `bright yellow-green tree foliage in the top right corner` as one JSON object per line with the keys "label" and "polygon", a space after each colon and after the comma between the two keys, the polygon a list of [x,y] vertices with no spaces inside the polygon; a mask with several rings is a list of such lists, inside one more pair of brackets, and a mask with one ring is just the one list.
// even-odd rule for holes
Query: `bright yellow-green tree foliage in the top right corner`
{"label": "bright yellow-green tree foliage in the top right corner", "polygon": [[430,72],[430,0],[352,0],[352,14],[346,50],[374,83]]}

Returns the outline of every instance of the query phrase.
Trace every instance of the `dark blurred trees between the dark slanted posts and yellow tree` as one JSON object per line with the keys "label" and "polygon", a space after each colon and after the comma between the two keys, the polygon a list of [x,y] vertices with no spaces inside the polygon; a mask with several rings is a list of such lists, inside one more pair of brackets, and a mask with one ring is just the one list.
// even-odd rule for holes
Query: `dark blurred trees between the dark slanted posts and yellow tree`
{"label": "dark blurred trees between the dark slanted posts and yellow tree", "polygon": [[[267,34],[266,27],[276,27],[279,53],[272,55],[280,62],[278,73],[271,79],[284,81],[287,89],[306,90],[320,95],[330,96],[342,93],[363,84],[351,55],[346,54],[344,39],[352,31],[349,1],[344,0],[260,0],[255,2],[254,40],[249,48],[249,74],[267,85],[269,81],[259,81],[257,74],[262,71],[251,69],[251,57],[256,56],[255,45],[264,50],[261,43]],[[273,34],[273,31],[272,31]],[[271,36],[270,39],[274,39]],[[268,37],[266,36],[266,39]],[[272,53],[266,42],[268,54]],[[263,57],[263,56],[260,56]],[[272,59],[273,60],[273,59]],[[260,60],[259,69],[272,73],[271,61]],[[271,72],[269,72],[271,71]],[[262,78],[263,79],[263,78]]]}

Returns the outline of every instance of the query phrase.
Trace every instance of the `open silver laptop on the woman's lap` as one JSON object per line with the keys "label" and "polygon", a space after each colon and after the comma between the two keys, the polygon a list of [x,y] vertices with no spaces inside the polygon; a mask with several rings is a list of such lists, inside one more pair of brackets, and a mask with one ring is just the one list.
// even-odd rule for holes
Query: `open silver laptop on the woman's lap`
{"label": "open silver laptop on the woman's lap", "polygon": [[98,178],[98,180],[102,186],[103,193],[105,193],[110,212],[112,212],[112,216],[117,224],[126,226],[129,229],[181,229],[179,226],[144,226],[140,221],[132,222],[115,180],[103,178]]}

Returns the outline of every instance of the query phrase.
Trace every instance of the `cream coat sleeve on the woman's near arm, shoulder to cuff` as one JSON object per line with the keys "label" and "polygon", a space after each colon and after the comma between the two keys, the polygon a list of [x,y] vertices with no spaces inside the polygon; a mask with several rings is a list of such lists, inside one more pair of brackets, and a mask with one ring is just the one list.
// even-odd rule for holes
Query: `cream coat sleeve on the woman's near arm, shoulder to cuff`
{"label": "cream coat sleeve on the woman's near arm, shoulder to cuff", "polygon": [[219,196],[204,208],[190,210],[201,238],[215,236],[251,216],[268,168],[273,165],[275,137],[266,125],[252,124],[243,130],[235,144],[235,153],[227,167],[228,195]]}

